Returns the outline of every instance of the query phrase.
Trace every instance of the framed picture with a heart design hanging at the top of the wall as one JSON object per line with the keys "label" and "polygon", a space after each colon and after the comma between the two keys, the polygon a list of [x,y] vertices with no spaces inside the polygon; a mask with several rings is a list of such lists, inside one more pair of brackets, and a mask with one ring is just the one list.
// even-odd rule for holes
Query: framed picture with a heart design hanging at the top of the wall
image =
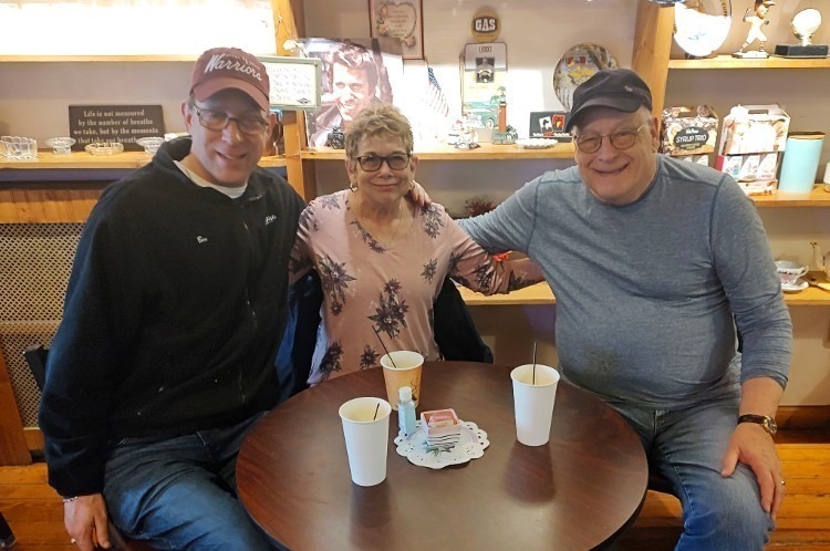
{"label": "framed picture with a heart design hanging at the top of the wall", "polygon": [[398,39],[404,60],[423,60],[423,0],[369,0],[370,34]]}

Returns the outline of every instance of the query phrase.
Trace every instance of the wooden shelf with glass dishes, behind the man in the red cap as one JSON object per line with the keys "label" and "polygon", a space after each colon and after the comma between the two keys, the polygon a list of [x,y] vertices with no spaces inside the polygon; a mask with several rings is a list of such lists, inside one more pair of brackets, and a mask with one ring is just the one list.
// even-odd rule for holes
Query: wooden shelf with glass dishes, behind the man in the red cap
{"label": "wooden shelf with glass dishes, behind the man in the red cap", "polygon": [[[0,170],[133,169],[146,165],[149,160],[151,156],[144,152],[124,152],[117,155],[90,155],[86,152],[73,152],[69,155],[55,155],[51,150],[41,150],[38,152],[37,160],[2,160]],[[268,168],[286,166],[286,157],[262,157],[259,166]]]}

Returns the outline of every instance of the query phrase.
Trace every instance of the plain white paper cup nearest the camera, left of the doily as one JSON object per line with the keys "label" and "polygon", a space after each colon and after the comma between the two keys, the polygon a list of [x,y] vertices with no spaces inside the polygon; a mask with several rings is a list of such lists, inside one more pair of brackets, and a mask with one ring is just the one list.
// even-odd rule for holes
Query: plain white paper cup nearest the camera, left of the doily
{"label": "plain white paper cup nearest the camera, left of the doily", "polygon": [[386,479],[386,444],[390,439],[392,406],[383,398],[353,398],[340,406],[339,413],[343,422],[352,482],[357,486],[383,482]]}

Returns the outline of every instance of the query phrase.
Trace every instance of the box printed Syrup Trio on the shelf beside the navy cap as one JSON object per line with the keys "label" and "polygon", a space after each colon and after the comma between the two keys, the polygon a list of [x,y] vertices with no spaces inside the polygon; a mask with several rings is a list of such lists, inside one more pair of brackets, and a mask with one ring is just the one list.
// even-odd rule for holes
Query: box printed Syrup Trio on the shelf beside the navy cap
{"label": "box printed Syrup Trio on the shelf beside the navy cap", "polygon": [[717,113],[708,105],[664,108],[661,153],[673,157],[688,157],[714,152],[717,123]]}

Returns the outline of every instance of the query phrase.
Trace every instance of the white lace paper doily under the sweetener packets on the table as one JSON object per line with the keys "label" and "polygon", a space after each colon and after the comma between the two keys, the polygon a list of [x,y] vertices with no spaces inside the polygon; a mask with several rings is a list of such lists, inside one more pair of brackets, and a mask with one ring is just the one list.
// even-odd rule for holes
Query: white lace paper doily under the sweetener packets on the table
{"label": "white lace paper doily under the sweetener packets on the table", "polygon": [[407,458],[411,464],[421,467],[443,469],[447,465],[461,465],[470,459],[481,457],[485,448],[490,445],[490,440],[487,439],[487,433],[469,420],[461,422],[461,440],[447,451],[428,447],[426,435],[421,428],[419,420],[416,423],[416,427],[415,433],[409,436],[398,433],[394,441],[400,456]]}

